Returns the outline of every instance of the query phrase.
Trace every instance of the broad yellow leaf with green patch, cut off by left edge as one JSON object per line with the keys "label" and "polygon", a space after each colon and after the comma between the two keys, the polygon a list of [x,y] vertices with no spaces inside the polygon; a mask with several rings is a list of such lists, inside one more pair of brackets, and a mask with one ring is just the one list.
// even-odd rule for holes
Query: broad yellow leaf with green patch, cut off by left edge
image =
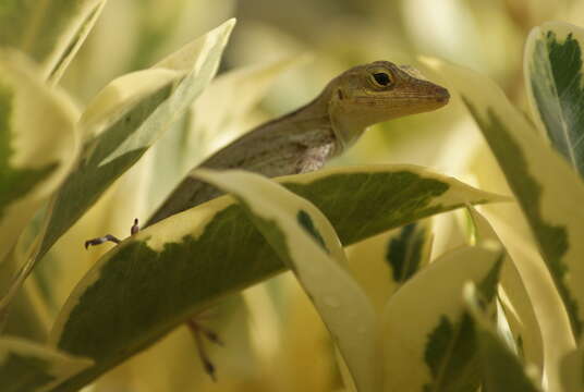
{"label": "broad yellow leaf with green patch, cut off by left edge", "polygon": [[0,52],[0,262],[71,170],[77,115],[70,98],[45,86],[29,61]]}

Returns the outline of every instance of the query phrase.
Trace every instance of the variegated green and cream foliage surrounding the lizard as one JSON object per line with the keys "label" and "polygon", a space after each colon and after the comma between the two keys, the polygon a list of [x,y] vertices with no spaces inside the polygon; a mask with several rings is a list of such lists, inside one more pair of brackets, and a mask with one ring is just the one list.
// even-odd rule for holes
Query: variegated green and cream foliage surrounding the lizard
{"label": "variegated green and cream foliage surrounding the lizard", "polygon": [[[451,140],[471,150],[464,177],[497,193],[419,164],[363,164],[358,146],[275,180],[198,169],[228,195],[82,253],[84,240],[146,220],[193,167],[264,119],[254,108],[268,87],[302,63],[283,57],[216,78],[229,20],[97,94],[73,93],[58,84],[75,81],[105,3],[0,5],[8,391],[584,389],[584,29],[531,32],[521,93],[531,117],[483,74],[425,58],[454,117],[474,119],[486,142]],[[180,24],[178,8],[163,10],[144,19],[129,63],[158,54],[145,39],[163,48],[159,33]],[[230,341],[197,354],[211,330]],[[195,363],[207,355],[214,385]]]}

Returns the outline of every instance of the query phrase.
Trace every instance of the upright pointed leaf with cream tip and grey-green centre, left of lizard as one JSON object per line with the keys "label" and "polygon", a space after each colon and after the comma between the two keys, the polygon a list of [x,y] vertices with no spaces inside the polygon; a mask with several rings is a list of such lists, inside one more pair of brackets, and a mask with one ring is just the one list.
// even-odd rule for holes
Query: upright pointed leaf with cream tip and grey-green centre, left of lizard
{"label": "upright pointed leaf with cream tip and grey-green centre, left of lizard", "polygon": [[89,106],[82,124],[97,128],[77,168],[57,195],[38,258],[171,123],[214,77],[234,20],[186,45],[154,69],[113,81]]}

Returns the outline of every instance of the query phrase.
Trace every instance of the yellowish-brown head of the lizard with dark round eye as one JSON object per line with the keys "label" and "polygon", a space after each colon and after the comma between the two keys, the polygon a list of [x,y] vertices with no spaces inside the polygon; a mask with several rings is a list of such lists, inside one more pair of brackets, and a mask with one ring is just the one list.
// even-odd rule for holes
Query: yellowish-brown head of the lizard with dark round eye
{"label": "yellowish-brown head of the lizard with dark round eye", "polygon": [[373,124],[431,111],[448,103],[448,90],[409,65],[389,61],[354,66],[327,88],[328,113],[343,147]]}

